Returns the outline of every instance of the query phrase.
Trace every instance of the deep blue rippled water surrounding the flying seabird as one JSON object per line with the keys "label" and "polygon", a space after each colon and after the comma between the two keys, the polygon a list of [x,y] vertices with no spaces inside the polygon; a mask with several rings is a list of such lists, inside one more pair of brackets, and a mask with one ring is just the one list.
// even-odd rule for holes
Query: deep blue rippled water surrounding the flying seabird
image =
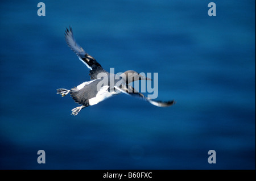
{"label": "deep blue rippled water surrounding the flying seabird", "polygon": [[[199,0],[39,2],[0,3],[1,169],[255,169],[255,1],[214,1],[214,17]],[[176,105],[118,95],[71,116],[56,89],[89,71],[69,26],[106,70],[159,73]]]}

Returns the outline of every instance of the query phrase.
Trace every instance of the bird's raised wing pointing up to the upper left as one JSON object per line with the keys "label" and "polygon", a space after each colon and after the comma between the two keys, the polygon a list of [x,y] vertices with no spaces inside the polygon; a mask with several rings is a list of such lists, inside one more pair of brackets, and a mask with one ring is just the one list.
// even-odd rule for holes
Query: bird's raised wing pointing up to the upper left
{"label": "bird's raised wing pointing up to the upper left", "polygon": [[90,69],[90,79],[96,79],[98,73],[106,72],[106,70],[102,68],[102,66],[95,60],[95,58],[86,53],[85,50],[76,43],[71,27],[69,27],[69,30],[68,28],[65,30],[65,40],[68,44],[68,47],[71,48],[73,52],[75,52],[79,57],[79,59]]}

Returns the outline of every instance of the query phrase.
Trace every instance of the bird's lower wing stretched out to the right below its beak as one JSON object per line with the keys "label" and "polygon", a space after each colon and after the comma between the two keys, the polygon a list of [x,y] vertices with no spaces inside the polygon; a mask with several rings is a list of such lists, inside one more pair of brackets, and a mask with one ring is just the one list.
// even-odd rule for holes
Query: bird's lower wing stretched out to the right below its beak
{"label": "bird's lower wing stretched out to the right below its beak", "polygon": [[130,86],[130,85],[121,85],[121,86],[115,86],[115,89],[127,94],[127,95],[131,95],[131,96],[137,96],[139,98],[142,98],[143,100],[146,100],[147,102],[153,104],[154,106],[158,106],[158,107],[169,107],[174,105],[176,102],[175,100],[170,100],[167,102],[162,102],[162,101],[158,101],[158,100],[152,100],[150,98],[148,98],[147,96],[144,96],[141,92],[138,92],[137,90],[134,89],[134,87]]}

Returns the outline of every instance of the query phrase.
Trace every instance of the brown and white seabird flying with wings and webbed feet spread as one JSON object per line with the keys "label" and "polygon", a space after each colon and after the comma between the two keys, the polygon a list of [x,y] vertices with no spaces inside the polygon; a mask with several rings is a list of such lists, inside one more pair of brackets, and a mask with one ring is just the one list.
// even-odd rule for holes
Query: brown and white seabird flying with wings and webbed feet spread
{"label": "brown and white seabird flying with wings and webbed feet spread", "polygon": [[[69,26],[69,29],[65,30],[65,41],[68,47],[76,53],[79,60],[82,61],[89,70],[91,81],[86,81],[80,85],[73,87],[72,89],[57,89],[57,94],[65,96],[70,94],[73,100],[81,106],[73,108],[71,115],[76,116],[83,108],[93,106],[102,102],[114,95],[127,94],[130,96],[137,96],[147,102],[158,107],[169,107],[176,103],[175,100],[169,100],[162,102],[159,100],[152,100],[147,96],[144,96],[141,92],[130,86],[129,83],[139,80],[152,81],[152,79],[144,77],[134,70],[127,70],[119,75],[109,73],[85,50],[76,43],[73,36],[73,30]],[[114,77],[114,81],[111,82],[111,78]]]}

